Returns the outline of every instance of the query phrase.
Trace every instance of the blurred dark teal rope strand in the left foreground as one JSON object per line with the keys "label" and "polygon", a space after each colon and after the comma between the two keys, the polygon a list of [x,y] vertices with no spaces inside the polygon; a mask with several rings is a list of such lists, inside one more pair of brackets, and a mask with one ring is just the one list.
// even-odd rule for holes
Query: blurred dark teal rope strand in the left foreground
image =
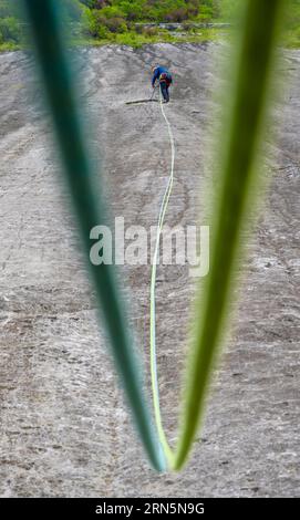
{"label": "blurred dark teal rope strand in the left foreground", "polygon": [[[58,4],[55,0],[23,0],[61,149],[63,169],[72,196],[74,215],[89,260],[90,231],[96,225],[106,223],[106,215],[99,190],[94,189],[95,175],[82,135],[55,3]],[[104,313],[114,358],[131,403],[135,423],[152,465],[157,470],[164,470],[164,455],[142,392],[141,367],[134,356],[128,324],[125,320],[125,309],[116,287],[114,268],[107,264],[95,267],[90,261],[89,264],[93,285]]]}

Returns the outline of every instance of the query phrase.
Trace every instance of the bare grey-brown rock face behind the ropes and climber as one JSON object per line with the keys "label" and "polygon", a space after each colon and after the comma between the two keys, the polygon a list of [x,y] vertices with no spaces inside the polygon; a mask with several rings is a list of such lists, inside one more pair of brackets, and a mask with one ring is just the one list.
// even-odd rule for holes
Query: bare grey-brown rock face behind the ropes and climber
{"label": "bare grey-brown rock face behind the ropes and climber", "polygon": [[[106,193],[125,227],[156,223],[168,175],[159,105],[125,104],[149,96],[153,62],[175,74],[166,113],[177,155],[166,223],[195,223],[200,215],[209,225],[203,188],[218,181],[207,150],[221,52],[192,44],[81,52],[91,153],[104,150]],[[300,53],[286,53],[281,67],[292,86],[275,111],[283,122],[279,144],[266,153],[275,176],[244,261],[231,340],[188,465],[157,477],[97,325],[33,64],[22,53],[0,56],[1,496],[299,496]],[[149,267],[125,266],[122,278],[148,368]],[[158,270],[159,385],[172,441],[194,285],[188,266]]]}

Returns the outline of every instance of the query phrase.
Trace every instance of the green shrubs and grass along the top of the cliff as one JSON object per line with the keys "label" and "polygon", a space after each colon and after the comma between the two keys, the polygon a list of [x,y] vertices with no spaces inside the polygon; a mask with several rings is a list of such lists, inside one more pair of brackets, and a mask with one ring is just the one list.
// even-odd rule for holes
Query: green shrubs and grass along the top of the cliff
{"label": "green shrubs and grass along the top of the cliff", "polygon": [[[200,22],[228,22],[242,0],[63,0],[60,2],[73,38],[84,43],[141,44],[155,41],[201,41],[218,38],[218,30],[197,29]],[[0,0],[0,49],[21,45],[23,27],[15,4]],[[144,25],[146,23],[146,25]],[[149,25],[147,25],[147,23]],[[180,23],[169,32],[159,23]],[[223,30],[224,34],[224,30]],[[300,46],[300,0],[290,0],[286,42]]]}

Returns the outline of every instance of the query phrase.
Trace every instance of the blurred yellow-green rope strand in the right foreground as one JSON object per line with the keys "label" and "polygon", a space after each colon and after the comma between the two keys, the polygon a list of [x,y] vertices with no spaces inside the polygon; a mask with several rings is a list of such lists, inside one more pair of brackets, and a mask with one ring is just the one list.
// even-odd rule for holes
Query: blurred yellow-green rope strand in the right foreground
{"label": "blurred yellow-green rope strand in the right foreground", "polygon": [[[257,175],[254,165],[282,4],[283,0],[247,1],[232,91],[234,104],[229,125],[223,134],[228,135],[228,138],[220,165],[223,188],[214,226],[211,267],[204,302],[198,304],[195,318],[198,322],[197,334],[187,373],[182,435],[175,454],[176,469],[186,460],[196,435],[229,297],[232,294],[234,267],[240,251],[241,228],[247,217],[250,188]],[[219,149],[216,149],[216,154],[219,154]]]}

